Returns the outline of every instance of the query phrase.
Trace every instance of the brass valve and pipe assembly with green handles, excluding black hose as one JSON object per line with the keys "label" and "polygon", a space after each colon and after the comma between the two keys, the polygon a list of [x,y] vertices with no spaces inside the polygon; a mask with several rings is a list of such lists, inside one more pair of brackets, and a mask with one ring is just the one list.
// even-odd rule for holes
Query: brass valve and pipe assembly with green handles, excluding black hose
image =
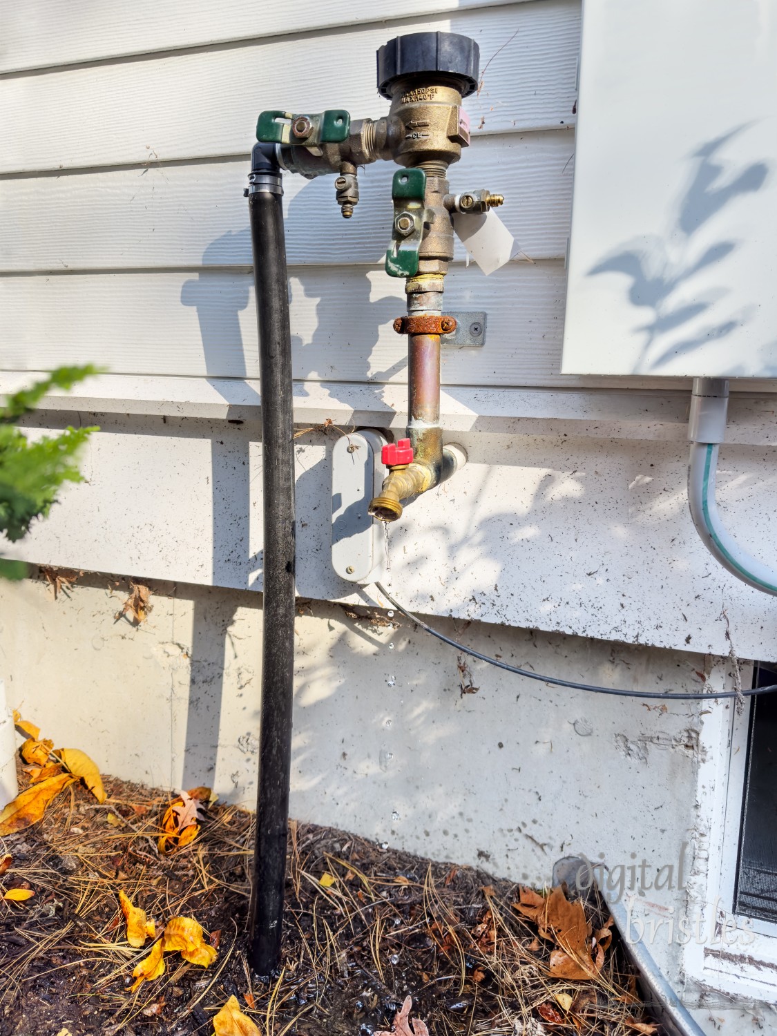
{"label": "brass valve and pipe assembly with green handles, excluding black hose", "polygon": [[257,123],[257,139],[275,144],[284,169],[308,179],[336,174],[336,199],[346,219],[358,204],[359,166],[386,160],[402,167],[392,183],[385,269],[406,282],[407,316],[395,321],[395,329],[408,336],[409,412],[407,438],[402,450],[384,451],[388,473],[370,505],[383,521],[399,518],[403,500],[443,482],[465,461],[461,448],[442,444],[439,424],[440,334],[455,326],[442,309],[454,257],[453,215],[487,212],[503,202],[485,190],[451,194],[447,179],[448,167],[469,144],[462,99],[478,88],[479,60],[479,47],[467,36],[397,36],[377,53],[378,92],[391,102],[387,115],[354,120],[342,109],[317,115],[268,111]]}

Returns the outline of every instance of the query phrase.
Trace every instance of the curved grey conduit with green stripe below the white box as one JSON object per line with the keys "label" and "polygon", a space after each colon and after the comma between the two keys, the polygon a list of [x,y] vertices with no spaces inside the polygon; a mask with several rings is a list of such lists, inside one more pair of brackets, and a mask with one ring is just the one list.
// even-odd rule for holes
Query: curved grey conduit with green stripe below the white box
{"label": "curved grey conduit with green stripe below the white box", "polygon": [[718,447],[725,439],[728,412],[728,381],[725,378],[694,378],[688,438],[688,503],[696,531],[710,553],[724,569],[748,586],[777,595],[777,571],[747,553],[720,520],[715,502]]}

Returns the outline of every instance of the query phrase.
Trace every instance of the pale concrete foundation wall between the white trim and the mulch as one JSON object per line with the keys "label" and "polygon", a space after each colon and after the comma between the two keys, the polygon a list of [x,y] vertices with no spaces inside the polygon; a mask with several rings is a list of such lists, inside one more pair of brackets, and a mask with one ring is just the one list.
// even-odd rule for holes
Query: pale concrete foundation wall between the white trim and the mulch
{"label": "pale concrete foundation wall between the white trim and the mulch", "polygon": [[[148,620],[134,628],[116,618],[124,580],[83,577],[56,601],[41,581],[0,585],[9,702],[118,776],[211,784],[253,806],[261,599],[152,588]],[[693,841],[698,706],[555,690],[477,662],[462,672],[453,649],[405,620],[353,614],[299,607],[292,815],[535,885],[576,852],[595,862],[606,853],[614,866],[644,858],[651,884],[663,866],[677,871]],[[706,665],[689,653],[435,622],[568,679],[696,690]],[[684,894],[649,892],[654,900],[677,908]]]}

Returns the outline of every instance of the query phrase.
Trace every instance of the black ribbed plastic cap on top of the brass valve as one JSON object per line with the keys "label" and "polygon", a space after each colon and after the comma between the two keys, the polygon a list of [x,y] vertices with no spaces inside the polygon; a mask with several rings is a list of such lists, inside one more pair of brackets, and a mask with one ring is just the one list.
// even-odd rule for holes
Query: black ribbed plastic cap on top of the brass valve
{"label": "black ribbed plastic cap on top of the brass valve", "polygon": [[411,32],[378,50],[378,92],[391,97],[392,84],[404,77],[443,73],[458,80],[462,97],[478,89],[481,49],[455,32]]}

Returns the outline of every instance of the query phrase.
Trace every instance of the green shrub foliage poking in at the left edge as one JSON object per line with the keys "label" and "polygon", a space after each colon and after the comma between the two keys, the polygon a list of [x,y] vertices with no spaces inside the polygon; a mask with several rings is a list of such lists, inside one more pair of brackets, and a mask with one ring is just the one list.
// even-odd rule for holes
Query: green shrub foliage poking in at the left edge
{"label": "green shrub foliage poking in at the left edge", "polygon": [[[0,406],[0,533],[21,540],[35,518],[45,518],[65,482],[83,482],[77,455],[96,428],[66,428],[61,435],[28,440],[16,427],[51,388],[71,388],[97,374],[95,367],[60,367],[47,378],[9,396]],[[0,576],[20,579],[22,562],[0,558]]]}

